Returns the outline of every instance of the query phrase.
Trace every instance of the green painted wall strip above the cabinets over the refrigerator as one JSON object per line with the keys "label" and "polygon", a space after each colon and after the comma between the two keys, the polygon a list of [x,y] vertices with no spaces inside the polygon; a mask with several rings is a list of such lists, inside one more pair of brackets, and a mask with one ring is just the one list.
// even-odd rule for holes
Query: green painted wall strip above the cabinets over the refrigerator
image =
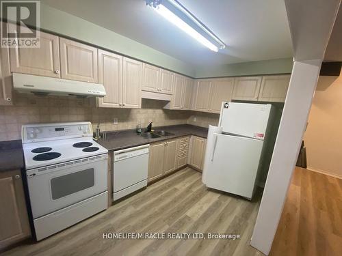
{"label": "green painted wall strip above the cabinets over the refrigerator", "polygon": [[196,68],[196,78],[216,76],[246,76],[257,74],[291,73],[293,61],[289,59],[272,59],[267,61],[251,61],[226,64],[220,66],[199,66]]}

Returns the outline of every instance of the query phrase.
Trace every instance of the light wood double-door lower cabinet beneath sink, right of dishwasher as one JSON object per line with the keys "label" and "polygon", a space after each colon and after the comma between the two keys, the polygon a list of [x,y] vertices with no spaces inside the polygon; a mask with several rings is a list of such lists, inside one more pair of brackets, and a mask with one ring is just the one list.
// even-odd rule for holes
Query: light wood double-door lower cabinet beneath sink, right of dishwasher
{"label": "light wood double-door lower cabinet beneath sink, right of dishwasher", "polygon": [[177,169],[177,139],[150,144],[148,182]]}

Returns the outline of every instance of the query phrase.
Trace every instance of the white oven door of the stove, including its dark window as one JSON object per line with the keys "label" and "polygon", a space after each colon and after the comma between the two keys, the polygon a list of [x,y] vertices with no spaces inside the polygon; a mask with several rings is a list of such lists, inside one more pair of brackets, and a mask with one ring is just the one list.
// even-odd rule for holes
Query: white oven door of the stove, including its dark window
{"label": "white oven door of the stove, including its dark window", "polygon": [[[50,214],[107,190],[107,154],[83,158],[47,171],[27,171],[34,218]],[[60,166],[60,167],[58,167]]]}

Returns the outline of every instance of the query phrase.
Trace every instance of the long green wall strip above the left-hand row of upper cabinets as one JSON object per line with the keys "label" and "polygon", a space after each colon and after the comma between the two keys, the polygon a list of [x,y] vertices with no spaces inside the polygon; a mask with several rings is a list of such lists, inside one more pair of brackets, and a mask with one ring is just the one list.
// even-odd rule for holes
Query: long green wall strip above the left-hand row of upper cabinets
{"label": "long green wall strip above the left-hand row of upper cabinets", "polygon": [[188,76],[195,75],[194,66],[189,65],[189,63],[170,57],[165,53],[156,51],[153,48],[126,38],[118,33],[114,33],[113,31],[109,31],[94,23],[90,23],[82,18],[51,8],[51,6],[44,3],[41,4],[40,26],[42,29],[70,36],[71,38],[89,42],[90,44],[96,44],[111,51],[129,55],[136,59],[174,70],[175,72],[187,74]]}

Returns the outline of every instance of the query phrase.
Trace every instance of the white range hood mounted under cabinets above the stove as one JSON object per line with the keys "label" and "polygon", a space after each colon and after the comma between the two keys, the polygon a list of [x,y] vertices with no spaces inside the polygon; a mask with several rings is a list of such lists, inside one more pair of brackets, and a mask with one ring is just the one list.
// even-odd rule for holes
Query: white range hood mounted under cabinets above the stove
{"label": "white range hood mounted under cabinets above the stove", "polygon": [[106,96],[105,87],[98,83],[86,83],[47,76],[13,73],[14,90],[25,94],[77,96],[83,98]]}

